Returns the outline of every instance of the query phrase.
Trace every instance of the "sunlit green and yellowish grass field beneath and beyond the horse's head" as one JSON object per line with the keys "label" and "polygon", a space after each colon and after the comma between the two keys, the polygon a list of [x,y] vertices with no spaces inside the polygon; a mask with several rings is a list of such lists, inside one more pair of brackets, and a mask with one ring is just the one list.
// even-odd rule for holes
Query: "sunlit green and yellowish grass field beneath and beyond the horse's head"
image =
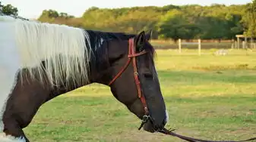
{"label": "sunlit green and yellowish grass field beneath and beyond the horse's head", "polygon": [[[157,51],[156,68],[166,107],[167,127],[210,140],[256,137],[256,54],[213,50]],[[173,141],[137,131],[140,120],[112,97],[109,88],[89,85],[49,101],[24,131],[31,141]]]}

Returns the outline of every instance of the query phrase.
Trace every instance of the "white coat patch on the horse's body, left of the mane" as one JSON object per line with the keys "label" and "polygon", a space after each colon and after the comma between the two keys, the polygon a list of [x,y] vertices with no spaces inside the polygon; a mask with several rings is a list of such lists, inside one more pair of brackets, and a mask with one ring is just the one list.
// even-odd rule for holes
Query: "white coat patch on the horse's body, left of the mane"
{"label": "white coat patch on the horse's body, left of the mane", "polygon": [[16,74],[21,63],[15,45],[14,27],[0,22],[0,31],[0,131],[3,131],[2,117],[5,104],[16,84]]}

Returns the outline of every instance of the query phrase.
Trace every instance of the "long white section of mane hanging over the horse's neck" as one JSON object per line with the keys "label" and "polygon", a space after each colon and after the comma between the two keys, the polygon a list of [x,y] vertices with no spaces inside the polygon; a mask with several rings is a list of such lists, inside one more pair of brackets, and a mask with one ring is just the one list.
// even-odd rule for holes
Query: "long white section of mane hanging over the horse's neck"
{"label": "long white section of mane hanging over the horse's neck", "polygon": [[[11,24],[13,35],[21,56],[21,69],[27,68],[31,76],[43,72],[52,86],[63,82],[82,84],[89,82],[90,39],[79,28],[15,20],[0,16],[0,22]],[[1,32],[0,32],[1,34]],[[87,44],[89,47],[87,47]],[[43,68],[42,61],[46,61]]]}

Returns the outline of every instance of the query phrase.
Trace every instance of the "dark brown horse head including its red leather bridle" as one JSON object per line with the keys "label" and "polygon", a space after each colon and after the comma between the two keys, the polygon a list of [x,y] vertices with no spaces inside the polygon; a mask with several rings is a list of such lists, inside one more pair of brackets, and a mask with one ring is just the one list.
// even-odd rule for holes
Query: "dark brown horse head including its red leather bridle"
{"label": "dark brown horse head including its red leather bridle", "polygon": [[141,32],[128,40],[104,41],[105,61],[91,73],[92,82],[109,85],[115,98],[142,120],[145,131],[155,132],[164,128],[168,114],[149,40],[150,33]]}

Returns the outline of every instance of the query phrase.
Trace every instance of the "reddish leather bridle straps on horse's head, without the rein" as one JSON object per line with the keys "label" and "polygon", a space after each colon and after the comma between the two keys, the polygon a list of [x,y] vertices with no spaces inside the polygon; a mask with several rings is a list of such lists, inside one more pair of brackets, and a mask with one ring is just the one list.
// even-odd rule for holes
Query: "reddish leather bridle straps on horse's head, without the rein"
{"label": "reddish leather bridle straps on horse's head, without the rein", "polygon": [[122,73],[124,73],[125,69],[127,69],[128,65],[131,63],[131,59],[132,59],[132,66],[134,68],[134,80],[137,86],[137,96],[141,99],[141,103],[144,107],[144,116],[142,118],[142,123],[141,126],[139,128],[139,130],[142,128],[142,126],[148,121],[150,120],[150,113],[147,107],[147,103],[146,103],[146,99],[144,97],[144,95],[141,93],[141,82],[139,80],[139,73],[137,73],[137,63],[136,63],[136,57],[141,56],[143,54],[147,54],[147,51],[141,51],[139,53],[135,53],[136,47],[134,46],[134,38],[129,39],[129,47],[128,47],[128,60],[125,63],[125,66],[122,66],[122,69],[119,71],[119,73],[117,73],[117,75],[112,79],[111,82],[109,82],[109,86],[112,85],[113,82],[115,82],[116,79],[119,78],[119,76],[122,75]]}

